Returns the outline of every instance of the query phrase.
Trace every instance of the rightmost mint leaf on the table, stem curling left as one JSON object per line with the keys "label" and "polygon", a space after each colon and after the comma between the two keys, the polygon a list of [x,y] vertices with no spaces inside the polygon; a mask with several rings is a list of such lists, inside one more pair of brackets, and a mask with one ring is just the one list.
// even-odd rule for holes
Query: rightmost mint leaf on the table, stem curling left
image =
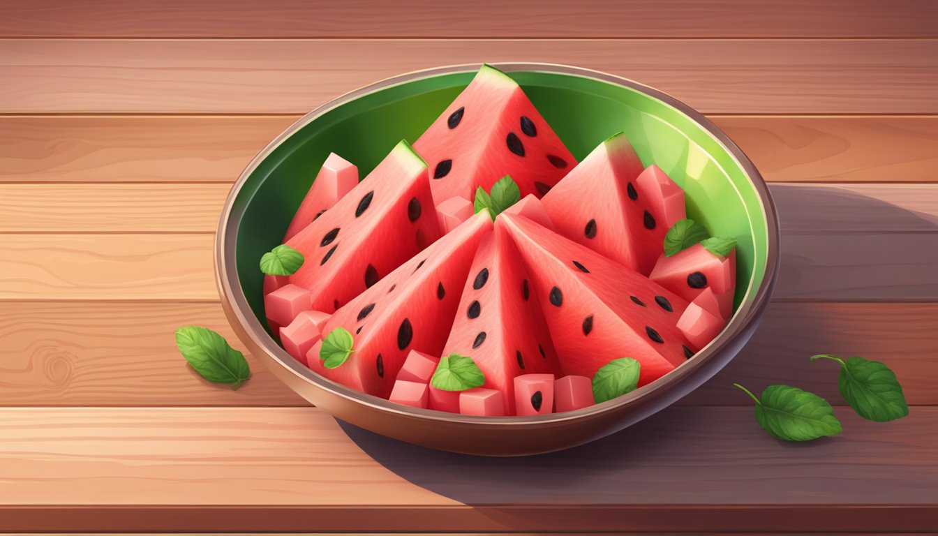
{"label": "rightmost mint leaf on the table, stem curling left", "polygon": [[816,360],[834,360],[840,363],[837,385],[843,399],[860,417],[868,421],[895,421],[909,414],[909,406],[902,394],[902,386],[885,363],[854,356],[846,362],[837,356],[821,354]]}

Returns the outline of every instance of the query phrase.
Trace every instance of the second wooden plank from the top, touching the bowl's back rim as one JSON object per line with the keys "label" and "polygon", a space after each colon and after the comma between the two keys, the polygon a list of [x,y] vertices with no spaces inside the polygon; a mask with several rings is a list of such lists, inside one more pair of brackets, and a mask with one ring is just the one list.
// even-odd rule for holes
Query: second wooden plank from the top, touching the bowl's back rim
{"label": "second wooden plank from the top, touching the bowl's back rim", "polygon": [[628,76],[704,113],[938,112],[938,40],[930,39],[7,39],[0,47],[6,113],[304,113],[401,72],[517,58]]}

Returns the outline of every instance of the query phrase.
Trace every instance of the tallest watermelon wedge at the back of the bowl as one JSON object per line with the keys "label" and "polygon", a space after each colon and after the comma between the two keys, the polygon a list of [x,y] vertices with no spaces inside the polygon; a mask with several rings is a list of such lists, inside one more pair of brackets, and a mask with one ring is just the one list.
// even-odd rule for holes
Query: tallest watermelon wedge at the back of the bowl
{"label": "tallest watermelon wedge at the back of the bowl", "polygon": [[507,74],[482,66],[476,77],[414,143],[430,164],[437,204],[472,200],[510,175],[522,197],[546,193],[576,159]]}

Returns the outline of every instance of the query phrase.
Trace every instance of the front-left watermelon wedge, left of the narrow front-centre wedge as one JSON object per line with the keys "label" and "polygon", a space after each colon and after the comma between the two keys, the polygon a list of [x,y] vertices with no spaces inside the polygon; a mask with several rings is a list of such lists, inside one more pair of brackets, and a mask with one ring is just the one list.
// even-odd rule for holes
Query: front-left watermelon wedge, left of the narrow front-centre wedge
{"label": "front-left watermelon wedge, left of the narrow front-centre wedge", "polygon": [[478,213],[336,311],[323,334],[348,329],[355,352],[340,367],[317,372],[387,398],[411,350],[443,351],[479,240],[491,231],[492,216]]}

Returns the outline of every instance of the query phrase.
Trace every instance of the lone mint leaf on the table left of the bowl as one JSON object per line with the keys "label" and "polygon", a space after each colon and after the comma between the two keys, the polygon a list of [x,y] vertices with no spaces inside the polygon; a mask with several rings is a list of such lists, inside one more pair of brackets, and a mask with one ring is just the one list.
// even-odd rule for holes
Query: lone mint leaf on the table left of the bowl
{"label": "lone mint leaf on the table left of the bowl", "polygon": [[175,330],[175,339],[182,357],[208,381],[232,384],[237,388],[250,378],[250,366],[244,354],[228,345],[228,341],[215,331],[186,326]]}

